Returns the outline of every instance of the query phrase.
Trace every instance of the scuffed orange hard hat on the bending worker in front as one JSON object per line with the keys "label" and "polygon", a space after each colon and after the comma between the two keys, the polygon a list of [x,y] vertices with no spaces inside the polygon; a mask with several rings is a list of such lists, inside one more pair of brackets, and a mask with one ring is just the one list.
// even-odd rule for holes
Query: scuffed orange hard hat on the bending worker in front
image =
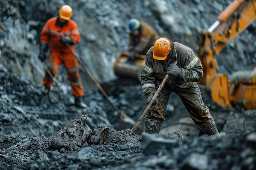
{"label": "scuffed orange hard hat on the bending worker in front", "polygon": [[171,41],[165,37],[155,40],[153,47],[153,58],[155,60],[165,60],[171,50]]}

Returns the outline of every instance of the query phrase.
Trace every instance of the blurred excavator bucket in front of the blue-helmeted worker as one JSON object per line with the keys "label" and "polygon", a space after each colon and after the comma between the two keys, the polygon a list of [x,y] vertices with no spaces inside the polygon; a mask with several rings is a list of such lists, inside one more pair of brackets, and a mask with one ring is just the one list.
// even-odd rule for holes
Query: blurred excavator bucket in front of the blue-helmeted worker
{"label": "blurred excavator bucket in front of the blue-helmeted worker", "polygon": [[145,55],[136,55],[134,61],[128,60],[129,52],[122,51],[113,65],[115,75],[139,79],[141,68],[145,63]]}

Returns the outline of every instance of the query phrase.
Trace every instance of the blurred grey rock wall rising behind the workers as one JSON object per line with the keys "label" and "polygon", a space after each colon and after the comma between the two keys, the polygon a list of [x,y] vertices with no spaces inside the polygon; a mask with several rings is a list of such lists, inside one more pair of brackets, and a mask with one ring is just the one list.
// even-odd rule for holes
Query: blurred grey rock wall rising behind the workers
{"label": "blurred grey rock wall rising behind the workers", "polygon": [[[137,18],[153,26],[160,36],[181,42],[196,51],[199,32],[208,29],[218,14],[232,1],[192,0],[0,0],[0,66],[10,73],[29,77],[40,83],[44,67],[38,60],[40,31],[45,22],[56,15],[64,4],[73,9],[72,19],[79,26],[81,42],[78,55],[95,79],[108,82],[115,79],[112,65],[123,50],[127,50],[127,23]],[[256,63],[255,22],[237,36],[216,56],[220,73],[232,74],[247,70]],[[45,63],[46,64],[46,63]],[[85,90],[96,88],[82,71]],[[65,69],[57,79],[68,82]]]}

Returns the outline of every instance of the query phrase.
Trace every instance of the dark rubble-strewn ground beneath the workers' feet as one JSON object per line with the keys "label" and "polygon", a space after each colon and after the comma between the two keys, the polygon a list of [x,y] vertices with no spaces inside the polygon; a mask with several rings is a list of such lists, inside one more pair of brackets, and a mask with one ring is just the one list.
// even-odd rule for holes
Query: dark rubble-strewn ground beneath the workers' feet
{"label": "dark rubble-strewn ground beneath the workers' feet", "polygon": [[[207,93],[202,96],[220,134],[208,137],[193,125],[182,124],[180,120],[189,122],[188,115],[173,95],[162,134],[137,135],[120,129],[120,114],[99,91],[85,92],[88,108],[80,109],[70,105],[73,98],[64,84],[61,91],[53,86],[45,96],[40,84],[3,69],[0,79],[0,169],[256,169],[256,111],[221,108]],[[121,80],[102,87],[120,110],[134,122],[139,119],[146,99],[138,82]],[[180,124],[171,126],[173,122]],[[176,131],[164,131],[168,124]]]}

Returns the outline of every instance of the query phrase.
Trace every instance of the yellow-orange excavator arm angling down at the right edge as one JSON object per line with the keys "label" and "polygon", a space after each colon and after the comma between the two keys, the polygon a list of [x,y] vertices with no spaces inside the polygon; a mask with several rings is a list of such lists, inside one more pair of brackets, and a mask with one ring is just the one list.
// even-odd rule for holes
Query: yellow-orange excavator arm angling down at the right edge
{"label": "yellow-orange excavator arm angling down at the right edge", "polygon": [[234,92],[229,91],[233,84],[228,82],[226,74],[218,73],[218,62],[214,55],[219,54],[231,40],[243,32],[255,19],[255,0],[234,0],[220,13],[218,20],[208,30],[200,32],[200,44],[197,53],[204,72],[198,84],[211,93],[214,102],[223,107],[232,108],[231,103],[234,104],[230,101],[230,95]]}

